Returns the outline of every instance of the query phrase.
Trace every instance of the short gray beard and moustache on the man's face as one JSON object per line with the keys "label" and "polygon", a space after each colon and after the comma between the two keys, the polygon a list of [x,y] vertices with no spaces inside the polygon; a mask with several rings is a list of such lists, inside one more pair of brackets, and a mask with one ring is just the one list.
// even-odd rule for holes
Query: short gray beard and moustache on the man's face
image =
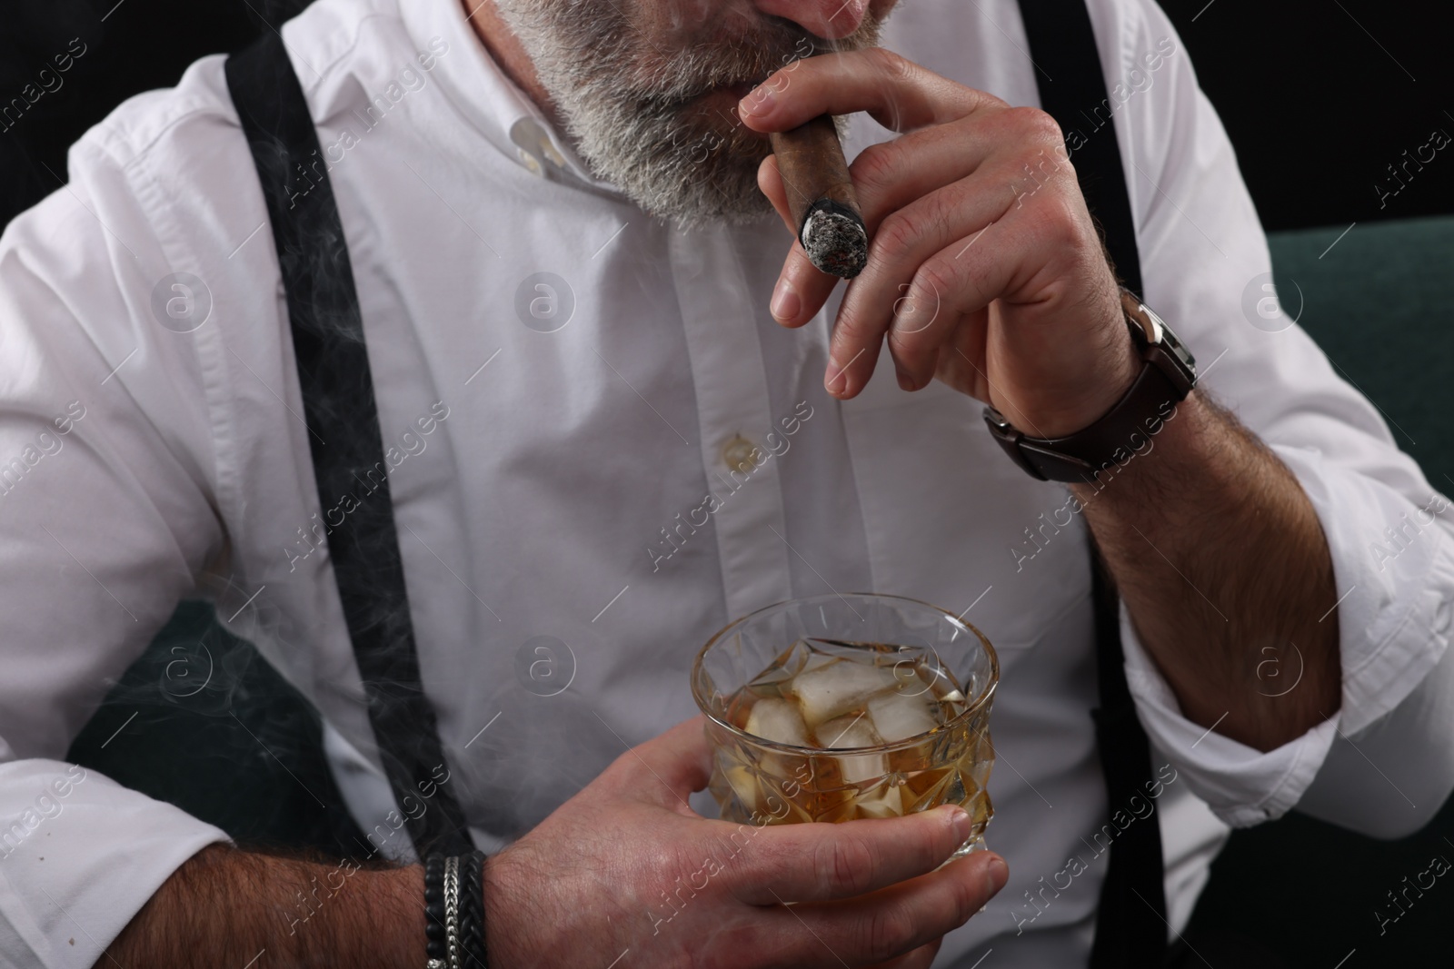
{"label": "short gray beard and moustache on the man's face", "polygon": [[[566,137],[598,179],[650,215],[683,227],[749,224],[774,214],[758,189],[772,153],[733,108],[708,110],[694,97],[721,84],[759,81],[803,57],[862,49],[881,23],[823,41],[791,23],[758,20],[746,36],[663,51],[627,20],[615,0],[496,0],[541,86],[566,122]],[[723,31],[717,31],[723,33]],[[846,118],[838,121],[846,134]]]}

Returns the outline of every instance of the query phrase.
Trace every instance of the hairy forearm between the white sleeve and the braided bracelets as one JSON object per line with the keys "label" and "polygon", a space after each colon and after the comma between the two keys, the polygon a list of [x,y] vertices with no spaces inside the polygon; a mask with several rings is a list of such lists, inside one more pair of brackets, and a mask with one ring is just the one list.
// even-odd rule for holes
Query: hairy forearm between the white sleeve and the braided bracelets
{"label": "hairy forearm between the white sleeve and the braided bracelets", "polygon": [[423,869],[359,867],[211,844],[188,859],[97,966],[416,969]]}

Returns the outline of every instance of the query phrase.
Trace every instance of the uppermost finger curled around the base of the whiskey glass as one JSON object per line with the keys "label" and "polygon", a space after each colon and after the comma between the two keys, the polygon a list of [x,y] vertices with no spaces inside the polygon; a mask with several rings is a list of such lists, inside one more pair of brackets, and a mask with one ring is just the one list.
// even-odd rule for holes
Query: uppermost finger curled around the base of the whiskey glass
{"label": "uppermost finger curled around the base of the whiskey glass", "polygon": [[731,866],[728,891],[749,905],[852,898],[932,872],[973,822],[958,805],[903,818],[771,825]]}

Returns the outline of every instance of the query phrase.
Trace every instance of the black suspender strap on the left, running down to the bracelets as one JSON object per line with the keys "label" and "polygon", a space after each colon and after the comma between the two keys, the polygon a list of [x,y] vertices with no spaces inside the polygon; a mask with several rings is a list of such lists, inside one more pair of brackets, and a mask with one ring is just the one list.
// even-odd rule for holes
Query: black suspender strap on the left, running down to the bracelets
{"label": "black suspender strap on the left, running down to the bracelets", "polygon": [[227,87],[252,147],[278,248],[320,508],[333,508],[350,494],[358,503],[340,524],[327,522],[326,527],[379,760],[419,857],[464,854],[474,850],[464,812],[451,787],[438,783],[448,773],[435,712],[419,678],[343,222],[282,38],[266,32],[227,58]]}

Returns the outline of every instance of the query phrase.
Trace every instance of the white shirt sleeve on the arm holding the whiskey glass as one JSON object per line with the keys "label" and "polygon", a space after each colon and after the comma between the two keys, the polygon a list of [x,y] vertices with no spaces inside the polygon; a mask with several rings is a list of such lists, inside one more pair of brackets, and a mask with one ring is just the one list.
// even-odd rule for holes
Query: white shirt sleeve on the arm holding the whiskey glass
{"label": "white shirt sleeve on the arm holding the whiskey glass", "polygon": [[70,161],[70,185],[0,237],[0,965],[16,968],[103,960],[179,864],[227,840],[64,761],[225,546],[198,337],[151,311],[174,267],[124,167],[96,144]]}

